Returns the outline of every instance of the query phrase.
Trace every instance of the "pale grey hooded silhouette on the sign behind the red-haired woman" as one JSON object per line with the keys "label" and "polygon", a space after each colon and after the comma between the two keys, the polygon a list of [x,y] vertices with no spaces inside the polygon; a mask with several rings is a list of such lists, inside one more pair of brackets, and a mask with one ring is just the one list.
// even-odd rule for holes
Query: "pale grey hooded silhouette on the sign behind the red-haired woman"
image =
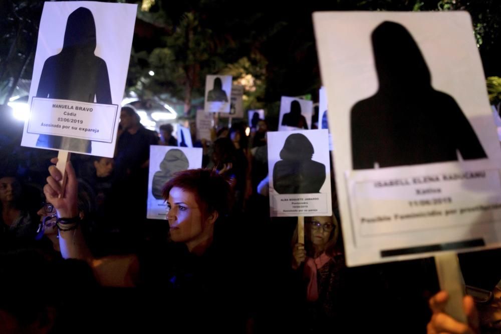
{"label": "pale grey hooded silhouette on the sign behind the red-haired woman", "polygon": [[163,199],[162,191],[165,183],[174,177],[176,172],[188,169],[189,162],[183,151],[176,148],[165,153],[165,157],[160,163],[160,170],[153,175],[152,191],[153,197]]}

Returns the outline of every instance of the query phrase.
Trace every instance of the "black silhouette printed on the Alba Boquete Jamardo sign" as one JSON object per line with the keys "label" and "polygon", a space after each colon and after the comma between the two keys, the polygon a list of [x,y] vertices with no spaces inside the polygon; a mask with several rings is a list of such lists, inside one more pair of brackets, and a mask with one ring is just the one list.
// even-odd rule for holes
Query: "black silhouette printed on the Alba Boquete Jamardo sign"
{"label": "black silhouette printed on the Alba Boquete Jamardo sign", "polygon": [[310,194],[320,192],[325,182],[325,165],[313,161],[315,150],[300,133],[289,135],[280,151],[280,160],[273,167],[273,187],[279,194]]}

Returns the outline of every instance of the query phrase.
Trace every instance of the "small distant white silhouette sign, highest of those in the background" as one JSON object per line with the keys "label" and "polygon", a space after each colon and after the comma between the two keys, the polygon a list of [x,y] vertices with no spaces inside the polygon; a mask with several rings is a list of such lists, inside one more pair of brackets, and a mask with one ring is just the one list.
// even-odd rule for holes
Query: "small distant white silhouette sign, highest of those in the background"
{"label": "small distant white silhouette sign, highest of those in the background", "polygon": [[205,77],[204,110],[210,113],[229,113],[231,76],[208,75]]}

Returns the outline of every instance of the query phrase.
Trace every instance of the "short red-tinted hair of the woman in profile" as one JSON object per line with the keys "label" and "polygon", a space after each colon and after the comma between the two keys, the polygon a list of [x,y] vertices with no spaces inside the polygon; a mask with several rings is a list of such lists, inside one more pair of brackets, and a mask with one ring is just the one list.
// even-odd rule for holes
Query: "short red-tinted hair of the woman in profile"
{"label": "short red-tinted hair of the woman in profile", "polygon": [[164,186],[162,196],[169,198],[172,188],[181,188],[195,196],[202,212],[210,214],[217,211],[219,216],[225,216],[231,208],[232,196],[228,181],[211,169],[188,169],[174,174]]}

